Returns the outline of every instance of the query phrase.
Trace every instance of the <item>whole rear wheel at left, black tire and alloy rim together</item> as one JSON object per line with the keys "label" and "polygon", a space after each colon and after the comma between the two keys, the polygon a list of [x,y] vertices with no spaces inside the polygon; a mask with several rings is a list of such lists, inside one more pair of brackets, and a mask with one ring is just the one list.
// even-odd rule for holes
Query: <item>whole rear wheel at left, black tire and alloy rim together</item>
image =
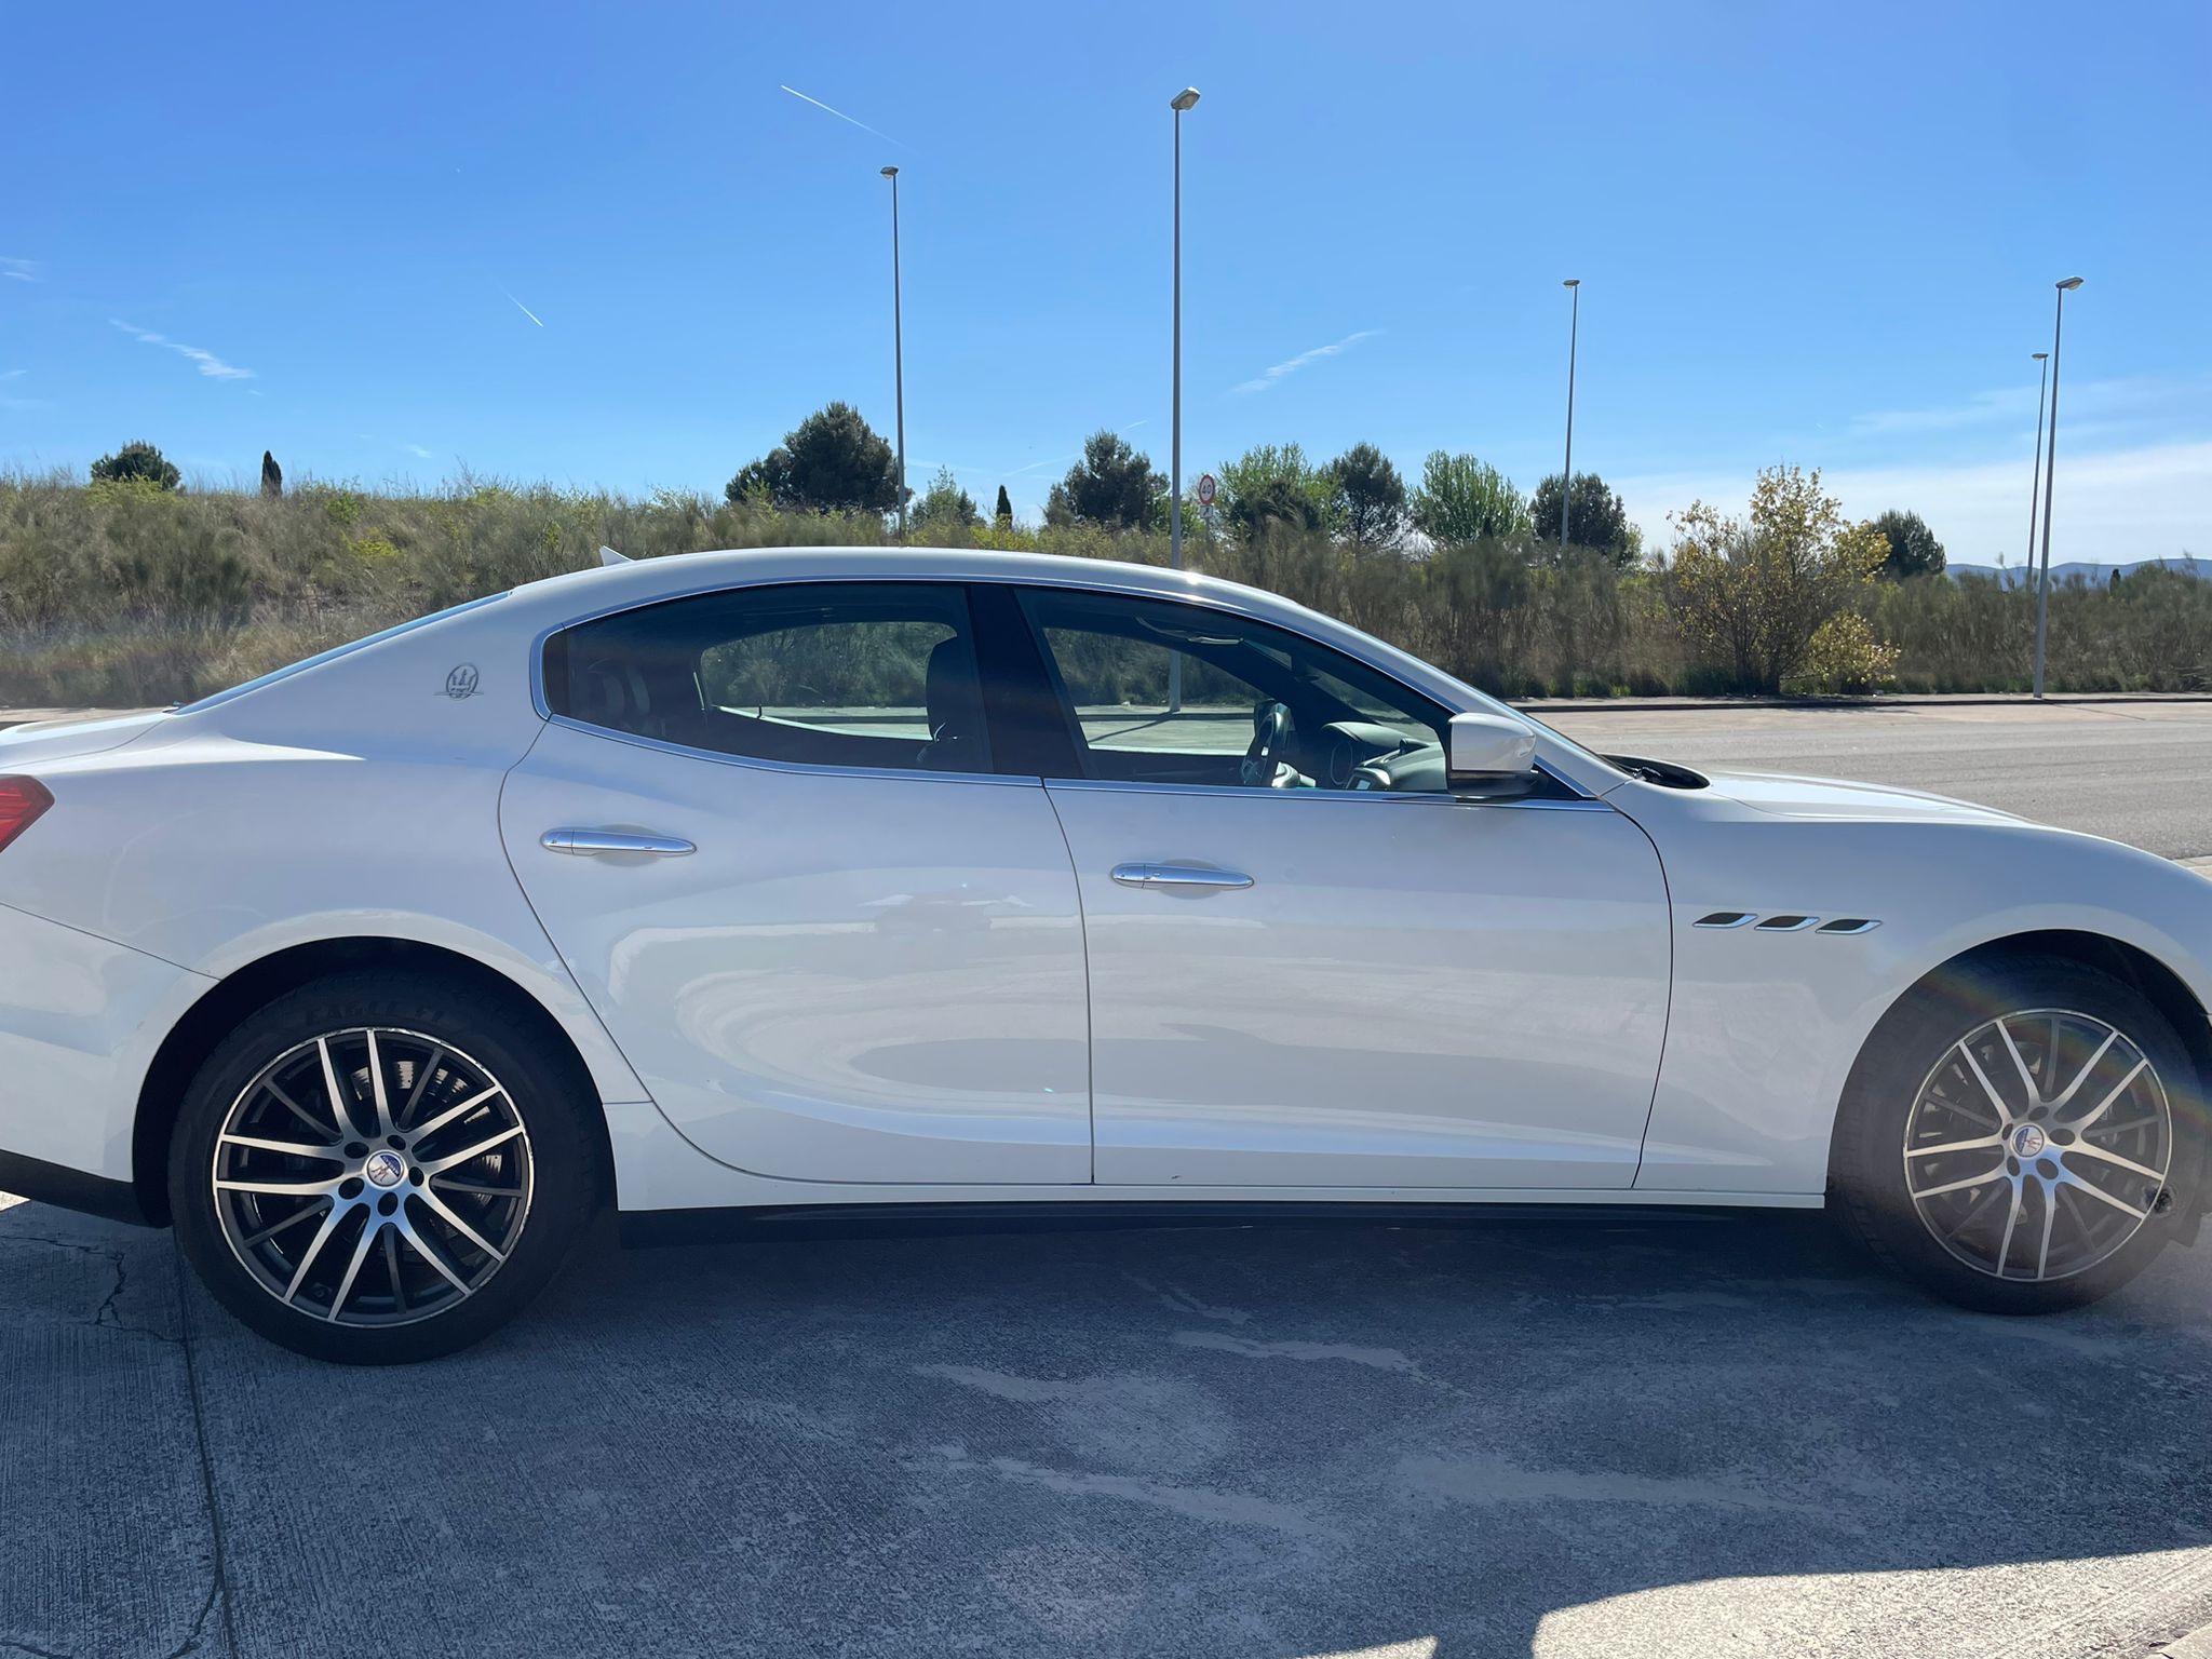
{"label": "whole rear wheel at left, black tire and alloy rim together", "polygon": [[451,1354],[522,1312],[591,1223],[593,1110],[529,1013],[480,987],[316,980],[248,1015],[186,1091],[177,1241],[223,1307],[296,1354]]}

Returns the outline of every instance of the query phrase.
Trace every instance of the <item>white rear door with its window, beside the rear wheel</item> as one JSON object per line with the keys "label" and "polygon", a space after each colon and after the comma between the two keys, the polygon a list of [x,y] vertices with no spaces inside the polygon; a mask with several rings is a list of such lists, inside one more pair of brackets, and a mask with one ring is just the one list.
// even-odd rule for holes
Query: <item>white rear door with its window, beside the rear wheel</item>
{"label": "white rear door with its window, beside the rear wheel", "polygon": [[1082,916],[958,584],[734,588],[546,648],[502,834],[670,1121],[790,1181],[1091,1179]]}

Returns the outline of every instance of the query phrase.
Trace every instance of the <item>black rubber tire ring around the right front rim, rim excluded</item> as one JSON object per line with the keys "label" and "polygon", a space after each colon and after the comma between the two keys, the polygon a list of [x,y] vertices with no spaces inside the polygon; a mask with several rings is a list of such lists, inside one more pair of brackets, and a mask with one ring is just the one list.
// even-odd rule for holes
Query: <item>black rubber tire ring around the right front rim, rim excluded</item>
{"label": "black rubber tire ring around the right front rim, rim excluded", "polygon": [[[2172,1206],[2095,1267],[2042,1283],[1995,1279],[1944,1250],[1913,1208],[1902,1157],[1907,1115],[1942,1055],[1997,1013],[2020,1009],[2075,1009],[2124,1031],[2159,1073],[2174,1137],[2166,1175]],[[1947,1301],[1993,1314],[2079,1307],[2135,1279],[2201,1203],[2199,1097],[2197,1064],[2172,1022],[2119,978],[2064,958],[1960,967],[1942,993],[1916,991],[1869,1040],[1836,1124],[1834,1197],[1876,1256]]]}

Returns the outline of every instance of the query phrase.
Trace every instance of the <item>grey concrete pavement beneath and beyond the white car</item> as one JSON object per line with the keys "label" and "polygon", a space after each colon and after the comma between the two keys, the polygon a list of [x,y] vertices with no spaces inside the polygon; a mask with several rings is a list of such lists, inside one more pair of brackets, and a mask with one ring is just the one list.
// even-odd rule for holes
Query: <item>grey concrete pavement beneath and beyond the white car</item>
{"label": "grey concrete pavement beneath and beyond the white car", "polygon": [[[1562,726],[2212,852],[2212,706]],[[0,1655],[2139,1659],[2212,1624],[2212,1245],[2006,1321],[1803,1214],[593,1239],[489,1343],[354,1371],[248,1336],[168,1234],[0,1199]]]}

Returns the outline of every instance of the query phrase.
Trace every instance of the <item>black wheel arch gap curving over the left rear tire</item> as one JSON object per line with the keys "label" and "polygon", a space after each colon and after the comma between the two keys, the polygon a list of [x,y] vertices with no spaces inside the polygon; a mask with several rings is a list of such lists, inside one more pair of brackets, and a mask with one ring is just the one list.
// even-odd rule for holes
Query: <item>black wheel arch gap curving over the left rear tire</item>
{"label": "black wheel arch gap curving over the left rear tire", "polygon": [[[535,1029],[546,1053],[571,1073],[577,1093],[593,1106],[602,1106],[591,1066],[562,1022],[529,989],[495,967],[442,945],[407,938],[356,936],[292,945],[230,971],[170,1026],[155,1051],[153,1064],[139,1082],[131,1126],[131,1183],[148,1221],[155,1225],[170,1221],[168,1137],[184,1106],[184,1091],[215,1053],[215,1046],[237,1031],[241,1020],[285,991],[352,969],[403,969],[436,975],[500,1000]],[[586,1117],[597,1128],[599,1179],[611,1186],[615,1159],[606,1113],[602,1108],[586,1113]]]}

